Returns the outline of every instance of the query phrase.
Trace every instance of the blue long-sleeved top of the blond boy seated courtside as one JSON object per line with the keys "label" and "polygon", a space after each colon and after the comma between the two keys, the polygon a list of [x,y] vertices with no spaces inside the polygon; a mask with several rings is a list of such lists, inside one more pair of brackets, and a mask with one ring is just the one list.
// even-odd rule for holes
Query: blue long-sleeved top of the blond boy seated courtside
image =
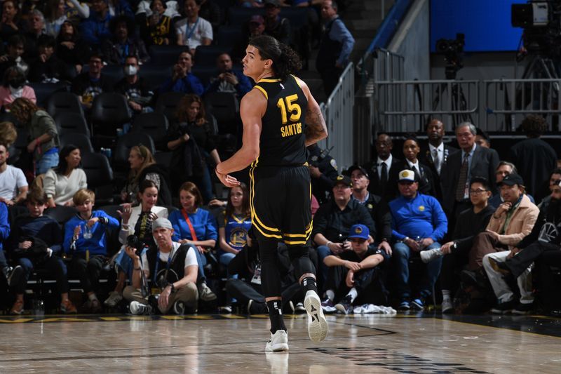
{"label": "blue long-sleeved top of the blond boy seated courtside", "polygon": [[76,226],[80,226],[81,232],[75,243],[76,253],[84,253],[87,250],[90,251],[90,255],[107,255],[107,243],[105,241],[105,234],[107,232],[106,228],[111,230],[117,229],[119,227],[119,221],[110,215],[107,215],[104,211],[93,211],[92,218],[95,217],[107,218],[109,222],[107,225],[104,225],[101,222],[95,222],[90,229],[92,233],[92,237],[90,239],[85,239],[83,237],[83,233],[86,232],[85,227],[88,220],[84,220],[79,214],[74,215],[74,217],[70,218],[65,223],[65,241],[62,243],[62,248],[65,250],[65,253],[70,252],[70,244],[72,244],[74,228]]}

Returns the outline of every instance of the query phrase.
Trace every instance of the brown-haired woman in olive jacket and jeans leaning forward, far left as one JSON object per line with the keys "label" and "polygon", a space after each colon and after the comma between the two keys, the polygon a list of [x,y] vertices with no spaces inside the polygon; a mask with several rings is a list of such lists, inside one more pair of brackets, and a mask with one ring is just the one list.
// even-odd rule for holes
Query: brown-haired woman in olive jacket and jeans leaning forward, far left
{"label": "brown-haired woman in olive jacket and jeans leaning forward, far left", "polygon": [[34,157],[34,174],[46,173],[58,165],[58,131],[53,117],[37,107],[32,100],[15,99],[11,113],[29,131],[27,152]]}

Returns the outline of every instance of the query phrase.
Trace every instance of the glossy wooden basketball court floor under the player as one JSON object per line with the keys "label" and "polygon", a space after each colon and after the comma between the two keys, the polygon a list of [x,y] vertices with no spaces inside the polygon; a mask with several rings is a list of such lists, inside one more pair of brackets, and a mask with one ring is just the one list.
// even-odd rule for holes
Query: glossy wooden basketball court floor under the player
{"label": "glossy wooden basketball court floor under the player", "polygon": [[285,319],[265,354],[265,315],[0,316],[0,373],[561,373],[561,319],[327,316],[320,345]]}

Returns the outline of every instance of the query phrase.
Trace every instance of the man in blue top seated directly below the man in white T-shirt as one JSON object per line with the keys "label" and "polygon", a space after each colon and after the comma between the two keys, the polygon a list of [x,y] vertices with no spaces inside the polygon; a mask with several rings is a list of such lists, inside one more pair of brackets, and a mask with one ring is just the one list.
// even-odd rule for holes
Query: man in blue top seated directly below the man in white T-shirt
{"label": "man in blue top seated directly below the man in white T-shirt", "polygon": [[171,78],[163,82],[160,93],[182,92],[203,95],[205,89],[201,81],[191,73],[193,55],[189,51],[180,53],[177,64],[173,65]]}

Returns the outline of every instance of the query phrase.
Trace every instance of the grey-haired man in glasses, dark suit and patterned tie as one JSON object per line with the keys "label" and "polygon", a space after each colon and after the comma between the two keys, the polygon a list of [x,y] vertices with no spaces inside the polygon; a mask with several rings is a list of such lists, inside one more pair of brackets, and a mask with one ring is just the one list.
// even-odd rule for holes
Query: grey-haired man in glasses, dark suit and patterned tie
{"label": "grey-haired man in glasses, dark suit and patterned tie", "polygon": [[[461,150],[450,154],[440,171],[442,207],[450,220],[470,208],[471,178],[477,176],[487,179],[492,192],[496,192],[495,171],[499,165],[499,154],[494,149],[477,145],[475,135],[477,128],[472,123],[462,122],[457,126],[456,139]],[[453,231],[452,227],[448,231]]]}

